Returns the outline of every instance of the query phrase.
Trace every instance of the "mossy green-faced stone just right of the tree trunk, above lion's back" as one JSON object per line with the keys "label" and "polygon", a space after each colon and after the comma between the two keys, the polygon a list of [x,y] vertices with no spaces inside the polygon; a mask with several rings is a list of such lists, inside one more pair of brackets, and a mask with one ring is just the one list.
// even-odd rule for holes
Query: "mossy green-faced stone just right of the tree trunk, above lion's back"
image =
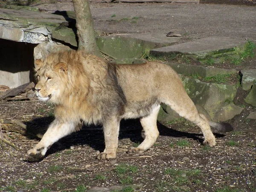
{"label": "mossy green-faced stone just right of the tree trunk, above lion's back", "polygon": [[149,50],[172,45],[178,37],[166,37],[165,34],[129,34],[110,35],[97,38],[99,49],[113,58],[141,58]]}

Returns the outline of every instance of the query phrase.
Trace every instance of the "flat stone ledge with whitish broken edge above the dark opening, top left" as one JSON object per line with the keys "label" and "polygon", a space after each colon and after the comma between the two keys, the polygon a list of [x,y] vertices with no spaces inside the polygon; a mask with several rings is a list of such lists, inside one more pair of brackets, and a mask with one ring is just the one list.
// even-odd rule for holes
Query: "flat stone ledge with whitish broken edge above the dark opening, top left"
{"label": "flat stone ledge with whitish broken edge above the dark opening, top left", "polygon": [[0,38],[41,44],[49,41],[52,29],[66,22],[61,15],[30,10],[0,9]]}

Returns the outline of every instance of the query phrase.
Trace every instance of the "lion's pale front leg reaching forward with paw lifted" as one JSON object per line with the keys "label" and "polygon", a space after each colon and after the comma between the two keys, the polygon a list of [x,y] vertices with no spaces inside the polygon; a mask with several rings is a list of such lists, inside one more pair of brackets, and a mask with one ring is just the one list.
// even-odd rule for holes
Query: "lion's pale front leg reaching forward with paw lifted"
{"label": "lion's pale front leg reaching forward with paw lifted", "polygon": [[27,151],[25,157],[28,161],[38,161],[44,157],[46,151],[51,147],[53,143],[69,135],[74,131],[78,131],[81,128],[81,124],[76,122],[59,122],[55,119],[47,129],[41,141],[35,145],[34,148]]}

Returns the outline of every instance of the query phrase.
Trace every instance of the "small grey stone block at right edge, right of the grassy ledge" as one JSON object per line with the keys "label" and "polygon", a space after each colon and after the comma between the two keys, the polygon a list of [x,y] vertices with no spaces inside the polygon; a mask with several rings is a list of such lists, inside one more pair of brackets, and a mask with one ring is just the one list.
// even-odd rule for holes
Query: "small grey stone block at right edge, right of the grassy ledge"
{"label": "small grey stone block at right edge, right of the grassy ledge", "polygon": [[249,90],[252,85],[256,84],[256,69],[241,70],[242,82],[241,86],[243,90]]}

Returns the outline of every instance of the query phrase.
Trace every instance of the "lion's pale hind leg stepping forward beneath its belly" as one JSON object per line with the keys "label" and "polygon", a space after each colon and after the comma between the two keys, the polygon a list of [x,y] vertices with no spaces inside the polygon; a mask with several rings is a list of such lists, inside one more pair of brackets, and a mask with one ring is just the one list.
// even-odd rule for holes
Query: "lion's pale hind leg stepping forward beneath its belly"
{"label": "lion's pale hind leg stepping forward beneath its belly", "polygon": [[150,115],[142,117],[140,119],[141,125],[145,131],[145,140],[136,148],[130,148],[129,154],[143,153],[148,150],[157,140],[159,131],[157,129],[157,114],[159,112],[160,105],[157,105],[152,109]]}

